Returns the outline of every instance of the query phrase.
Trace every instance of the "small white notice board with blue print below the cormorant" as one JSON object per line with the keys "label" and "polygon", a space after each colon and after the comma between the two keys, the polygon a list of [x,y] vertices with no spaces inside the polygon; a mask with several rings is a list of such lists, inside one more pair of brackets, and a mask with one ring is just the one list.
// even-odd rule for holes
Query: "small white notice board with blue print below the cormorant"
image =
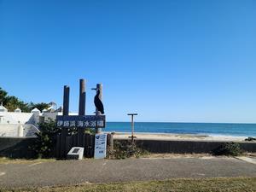
{"label": "small white notice board with blue print below the cormorant", "polygon": [[107,150],[107,134],[96,134],[94,158],[95,159],[106,158],[106,150]]}

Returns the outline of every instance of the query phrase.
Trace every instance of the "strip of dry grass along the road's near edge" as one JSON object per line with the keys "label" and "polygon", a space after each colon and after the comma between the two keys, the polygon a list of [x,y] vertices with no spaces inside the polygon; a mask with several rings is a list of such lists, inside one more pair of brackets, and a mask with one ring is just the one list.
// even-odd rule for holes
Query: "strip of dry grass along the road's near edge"
{"label": "strip of dry grass along the road's near edge", "polygon": [[84,184],[69,187],[32,188],[32,189],[0,189],[0,191],[123,191],[123,192],[149,192],[149,191],[178,191],[178,192],[253,192],[256,189],[256,177],[217,177],[204,179],[178,178],[165,181]]}

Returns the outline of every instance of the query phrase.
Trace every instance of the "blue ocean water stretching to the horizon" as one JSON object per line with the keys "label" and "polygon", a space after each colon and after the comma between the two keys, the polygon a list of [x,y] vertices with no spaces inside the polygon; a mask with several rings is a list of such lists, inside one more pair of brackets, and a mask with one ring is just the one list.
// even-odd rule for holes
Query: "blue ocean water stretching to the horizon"
{"label": "blue ocean water stretching to the horizon", "polygon": [[[108,122],[104,131],[131,132],[131,123]],[[256,137],[256,124],[135,122],[135,132]]]}

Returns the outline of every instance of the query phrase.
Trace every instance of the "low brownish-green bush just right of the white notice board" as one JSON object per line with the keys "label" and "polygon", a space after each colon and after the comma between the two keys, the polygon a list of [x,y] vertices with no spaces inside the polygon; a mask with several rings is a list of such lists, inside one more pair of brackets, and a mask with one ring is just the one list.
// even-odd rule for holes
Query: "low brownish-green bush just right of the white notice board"
{"label": "low brownish-green bush just right of the white notice board", "polygon": [[131,141],[115,142],[113,145],[113,150],[108,148],[107,158],[108,159],[126,159],[130,157],[139,157],[142,154],[148,154],[148,151],[144,150],[136,143]]}

